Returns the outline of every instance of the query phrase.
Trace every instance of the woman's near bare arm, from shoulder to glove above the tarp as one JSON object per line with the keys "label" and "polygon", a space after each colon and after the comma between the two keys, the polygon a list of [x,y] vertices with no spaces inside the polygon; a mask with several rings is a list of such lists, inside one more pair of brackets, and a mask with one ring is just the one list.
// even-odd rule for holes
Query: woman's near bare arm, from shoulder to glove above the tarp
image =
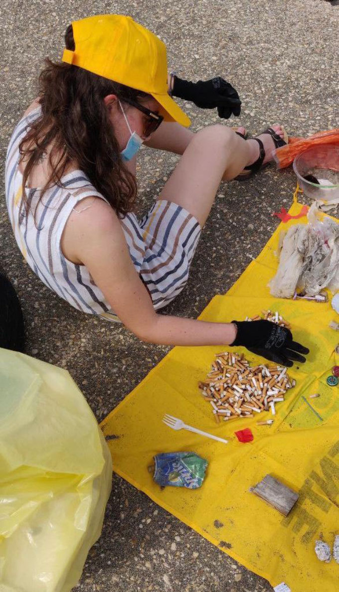
{"label": "woman's near bare arm, from shoulder to glove above the tarp", "polygon": [[81,215],[72,213],[65,231],[73,257],[87,266],[113,310],[139,339],[184,346],[226,345],[234,341],[236,329],[232,323],[207,323],[155,313],[130,259],[120,222],[104,202],[95,200]]}

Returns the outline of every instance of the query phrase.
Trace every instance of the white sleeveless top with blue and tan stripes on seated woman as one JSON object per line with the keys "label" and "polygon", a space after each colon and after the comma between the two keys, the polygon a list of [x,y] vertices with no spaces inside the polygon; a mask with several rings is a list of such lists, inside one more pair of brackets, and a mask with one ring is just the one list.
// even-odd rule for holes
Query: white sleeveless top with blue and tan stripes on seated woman
{"label": "white sleeveless top with blue and tan stripes on seated woman", "polygon": [[[39,188],[27,188],[31,209],[26,217],[20,208],[23,177],[18,164],[19,144],[27,134],[30,123],[40,115],[40,107],[20,120],[12,134],[5,165],[5,189],[9,220],[15,240],[34,273],[44,284],[73,307],[85,313],[98,314],[108,320],[119,320],[101,290],[94,284],[84,265],[72,263],[62,253],[60,240],[66,221],[72,210],[85,197],[103,199],[81,170],[62,178],[63,186],[47,189],[38,205]],[[81,205],[79,205],[81,210]],[[36,211],[36,223],[34,223]],[[136,215],[129,213],[121,221],[130,256],[136,269],[140,269],[145,255],[142,235],[138,231]]]}

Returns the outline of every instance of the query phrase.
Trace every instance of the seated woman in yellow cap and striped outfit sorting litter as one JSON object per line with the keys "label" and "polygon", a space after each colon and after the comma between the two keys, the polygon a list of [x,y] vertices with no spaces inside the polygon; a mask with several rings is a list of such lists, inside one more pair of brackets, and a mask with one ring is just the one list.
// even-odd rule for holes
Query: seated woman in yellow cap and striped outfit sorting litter
{"label": "seated woman in yellow cap and striped outfit sorting litter", "polygon": [[[308,350],[268,321],[156,314],[187,282],[220,181],[266,165],[283,128],[254,140],[224,126],[186,130],[168,94],[165,45],[130,17],[75,21],[65,41],[63,63],[47,62],[7,154],[9,217],[33,271],[79,310],[118,317],[146,342],[244,345],[286,365],[305,361]],[[142,143],[183,156],[138,221]]]}

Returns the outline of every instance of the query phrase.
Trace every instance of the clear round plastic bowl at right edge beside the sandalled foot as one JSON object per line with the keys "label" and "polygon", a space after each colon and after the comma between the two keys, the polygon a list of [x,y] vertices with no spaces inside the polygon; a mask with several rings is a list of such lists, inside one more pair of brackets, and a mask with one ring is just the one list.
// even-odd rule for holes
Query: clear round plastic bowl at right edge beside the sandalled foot
{"label": "clear round plastic bowl at right edge beside the sandalled foot", "polygon": [[[339,198],[339,146],[323,144],[308,148],[293,161],[293,169],[305,195],[312,200],[334,200]],[[313,175],[320,185],[306,181],[306,175]]]}

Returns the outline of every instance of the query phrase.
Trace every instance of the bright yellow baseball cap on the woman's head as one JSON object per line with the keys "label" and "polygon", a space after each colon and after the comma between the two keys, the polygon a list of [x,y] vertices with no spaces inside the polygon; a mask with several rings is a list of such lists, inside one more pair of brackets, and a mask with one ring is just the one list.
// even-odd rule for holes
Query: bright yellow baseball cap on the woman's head
{"label": "bright yellow baseball cap on the woman's head", "polygon": [[63,62],[147,92],[162,106],[165,120],[190,126],[168,95],[166,46],[156,35],[121,14],[83,18],[72,27],[75,50],[63,50]]}

